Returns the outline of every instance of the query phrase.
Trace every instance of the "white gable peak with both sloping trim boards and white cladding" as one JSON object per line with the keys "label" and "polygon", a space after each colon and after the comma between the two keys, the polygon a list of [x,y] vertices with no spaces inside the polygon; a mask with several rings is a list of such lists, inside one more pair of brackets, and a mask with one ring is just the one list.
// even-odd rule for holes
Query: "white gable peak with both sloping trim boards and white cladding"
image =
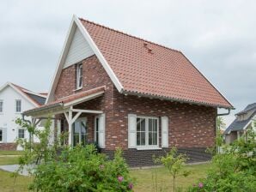
{"label": "white gable peak with both sloping trim boards and white cladding", "polygon": [[[85,39],[84,41],[81,39],[80,33]],[[73,43],[73,39],[75,39],[76,42]],[[82,42],[84,43],[84,45],[82,45]],[[76,51],[75,46],[81,46],[82,49],[86,51],[82,53],[77,53],[76,55],[75,53],[73,53],[73,51]],[[70,50],[71,52],[69,53]],[[107,63],[105,57],[103,57],[97,45],[95,45],[94,40],[91,38],[86,28],[82,26],[82,22],[77,18],[76,15],[73,15],[69,31],[64,42],[63,50],[61,51],[60,57],[58,59],[58,66],[55,70],[50,92],[46,99],[46,104],[50,103],[53,100],[53,93],[57,87],[58,79],[62,69],[70,66],[71,64],[74,64],[75,62],[78,63],[93,54],[95,54],[96,57],[99,59],[103,68],[107,71],[107,75],[109,75],[110,79],[113,81],[113,84],[119,90],[119,93],[123,92],[124,87],[120,83],[118,77],[114,74],[113,69],[111,69],[110,65]]]}

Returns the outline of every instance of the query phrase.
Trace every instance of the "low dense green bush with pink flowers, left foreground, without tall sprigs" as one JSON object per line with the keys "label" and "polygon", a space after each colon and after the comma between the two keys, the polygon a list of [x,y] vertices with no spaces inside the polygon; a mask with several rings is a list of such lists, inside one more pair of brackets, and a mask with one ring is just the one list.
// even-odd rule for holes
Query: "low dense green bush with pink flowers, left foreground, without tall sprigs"
{"label": "low dense green bush with pink flowers, left foreground, without tall sprigs", "polygon": [[130,191],[131,177],[121,150],[113,160],[97,153],[93,145],[64,150],[58,160],[34,171],[30,189],[36,191]]}

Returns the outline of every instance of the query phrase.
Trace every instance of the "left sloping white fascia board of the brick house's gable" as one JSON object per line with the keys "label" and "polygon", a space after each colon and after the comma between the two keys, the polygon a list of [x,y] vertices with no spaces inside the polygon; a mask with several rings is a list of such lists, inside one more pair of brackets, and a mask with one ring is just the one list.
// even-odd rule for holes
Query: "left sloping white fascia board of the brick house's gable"
{"label": "left sloping white fascia board of the brick house's gable", "polygon": [[73,34],[75,33],[75,30],[76,30],[76,25],[75,25],[75,21],[74,21],[74,17],[73,17],[72,21],[70,23],[70,27],[69,27],[68,33],[66,35],[65,41],[64,41],[64,46],[62,48],[60,56],[58,57],[57,68],[55,69],[55,73],[52,78],[52,83],[51,83],[50,91],[48,92],[48,95],[47,95],[46,104],[52,101],[51,99],[53,97],[55,88],[57,87],[58,77],[61,74],[61,71],[62,71],[62,68],[64,65],[64,60],[65,60],[67,52],[70,48],[71,39],[73,37]]}

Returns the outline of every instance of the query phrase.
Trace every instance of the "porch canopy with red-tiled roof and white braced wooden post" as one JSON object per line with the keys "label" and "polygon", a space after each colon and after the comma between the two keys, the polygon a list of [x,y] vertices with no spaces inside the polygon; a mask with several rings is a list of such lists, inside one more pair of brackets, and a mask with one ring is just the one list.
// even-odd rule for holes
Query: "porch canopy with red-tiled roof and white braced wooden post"
{"label": "porch canopy with red-tiled roof and white braced wooden post", "polygon": [[[39,121],[43,118],[52,117],[58,114],[64,114],[68,124],[69,124],[69,143],[72,143],[72,135],[71,129],[72,124],[75,123],[76,119],[82,113],[94,113],[94,114],[102,114],[103,111],[94,111],[87,109],[75,109],[74,106],[86,102],[91,99],[95,99],[97,97],[102,96],[105,93],[106,87],[96,87],[94,89],[90,89],[87,91],[83,91],[81,93],[72,94],[70,96],[57,99],[56,101],[42,105],[40,107],[34,108],[29,111],[24,111],[24,116],[32,117],[32,122],[36,122],[35,119],[39,119]],[[73,115],[75,114],[75,115]],[[39,121],[37,123],[39,123]]]}

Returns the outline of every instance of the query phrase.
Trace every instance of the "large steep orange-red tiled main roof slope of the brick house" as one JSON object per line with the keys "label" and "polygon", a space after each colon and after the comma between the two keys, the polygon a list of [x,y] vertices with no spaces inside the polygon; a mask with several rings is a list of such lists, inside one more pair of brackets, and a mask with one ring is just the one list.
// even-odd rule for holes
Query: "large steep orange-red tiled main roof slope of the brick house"
{"label": "large steep orange-red tiled main roof slope of the brick house", "polygon": [[233,106],[182,52],[80,19],[125,92]]}

